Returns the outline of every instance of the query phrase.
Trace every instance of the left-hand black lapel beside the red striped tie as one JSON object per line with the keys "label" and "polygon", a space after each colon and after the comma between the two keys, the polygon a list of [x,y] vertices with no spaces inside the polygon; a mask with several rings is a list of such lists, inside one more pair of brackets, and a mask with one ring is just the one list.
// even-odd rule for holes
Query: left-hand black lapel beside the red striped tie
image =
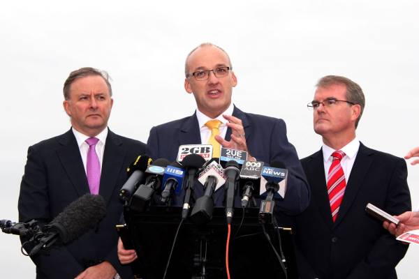
{"label": "left-hand black lapel beside the red striped tie", "polygon": [[325,167],[323,162],[323,151],[314,153],[311,156],[311,162],[307,163],[310,167],[308,168],[309,173],[307,179],[311,185],[312,199],[318,206],[323,220],[328,227],[333,226],[332,211],[330,211],[330,202],[328,196],[328,186],[325,178]]}

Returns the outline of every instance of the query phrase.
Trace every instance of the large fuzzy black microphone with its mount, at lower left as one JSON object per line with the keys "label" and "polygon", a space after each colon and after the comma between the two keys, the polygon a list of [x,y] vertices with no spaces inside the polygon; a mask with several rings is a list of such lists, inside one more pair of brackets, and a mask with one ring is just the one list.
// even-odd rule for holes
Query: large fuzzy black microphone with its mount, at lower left
{"label": "large fuzzy black microphone with its mount, at lower left", "polygon": [[35,234],[23,245],[31,244],[28,255],[32,256],[58,240],[64,244],[69,243],[96,227],[105,215],[106,204],[103,197],[85,194],[68,204],[51,223],[43,227],[41,233]]}

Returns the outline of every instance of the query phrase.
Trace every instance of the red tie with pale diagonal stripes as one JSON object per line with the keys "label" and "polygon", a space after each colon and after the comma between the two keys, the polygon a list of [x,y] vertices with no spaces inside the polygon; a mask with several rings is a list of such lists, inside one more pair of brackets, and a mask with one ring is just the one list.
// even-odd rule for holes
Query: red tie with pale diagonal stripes
{"label": "red tie with pale diagonal stripes", "polygon": [[339,211],[339,206],[344,198],[346,188],[344,169],[342,169],[340,164],[341,159],[345,155],[340,150],[332,153],[333,161],[328,174],[328,195],[333,222],[336,221],[337,211]]}

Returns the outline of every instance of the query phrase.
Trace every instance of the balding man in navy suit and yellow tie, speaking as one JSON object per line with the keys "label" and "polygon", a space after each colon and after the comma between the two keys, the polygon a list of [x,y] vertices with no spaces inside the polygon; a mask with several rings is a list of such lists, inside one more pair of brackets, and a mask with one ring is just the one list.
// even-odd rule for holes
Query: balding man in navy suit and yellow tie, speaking
{"label": "balding man in navy suit and yellow tie, speaking", "polygon": [[[294,146],[288,142],[282,119],[242,112],[231,98],[237,78],[228,54],[216,45],[203,43],[186,57],[184,88],[196,100],[191,116],[153,127],[147,145],[152,158],[177,158],[179,145],[212,144],[213,157],[220,145],[249,153],[248,160],[280,161],[288,169],[286,197],[276,208],[284,213],[302,212],[309,202],[309,187]],[[217,153],[218,152],[218,153]],[[197,197],[202,188],[196,187]],[[219,191],[222,194],[222,191]],[[222,201],[217,198],[215,201]],[[131,262],[135,252],[119,246],[122,263]]]}

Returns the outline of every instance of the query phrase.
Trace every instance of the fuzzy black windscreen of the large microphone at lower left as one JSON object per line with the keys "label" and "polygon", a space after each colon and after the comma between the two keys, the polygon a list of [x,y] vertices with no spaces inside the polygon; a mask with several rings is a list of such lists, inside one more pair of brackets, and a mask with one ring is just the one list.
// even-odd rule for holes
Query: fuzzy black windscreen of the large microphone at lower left
{"label": "fuzzy black windscreen of the large microphone at lower left", "polygon": [[103,197],[85,194],[68,204],[47,227],[58,232],[59,239],[65,244],[96,227],[105,215],[106,204]]}

